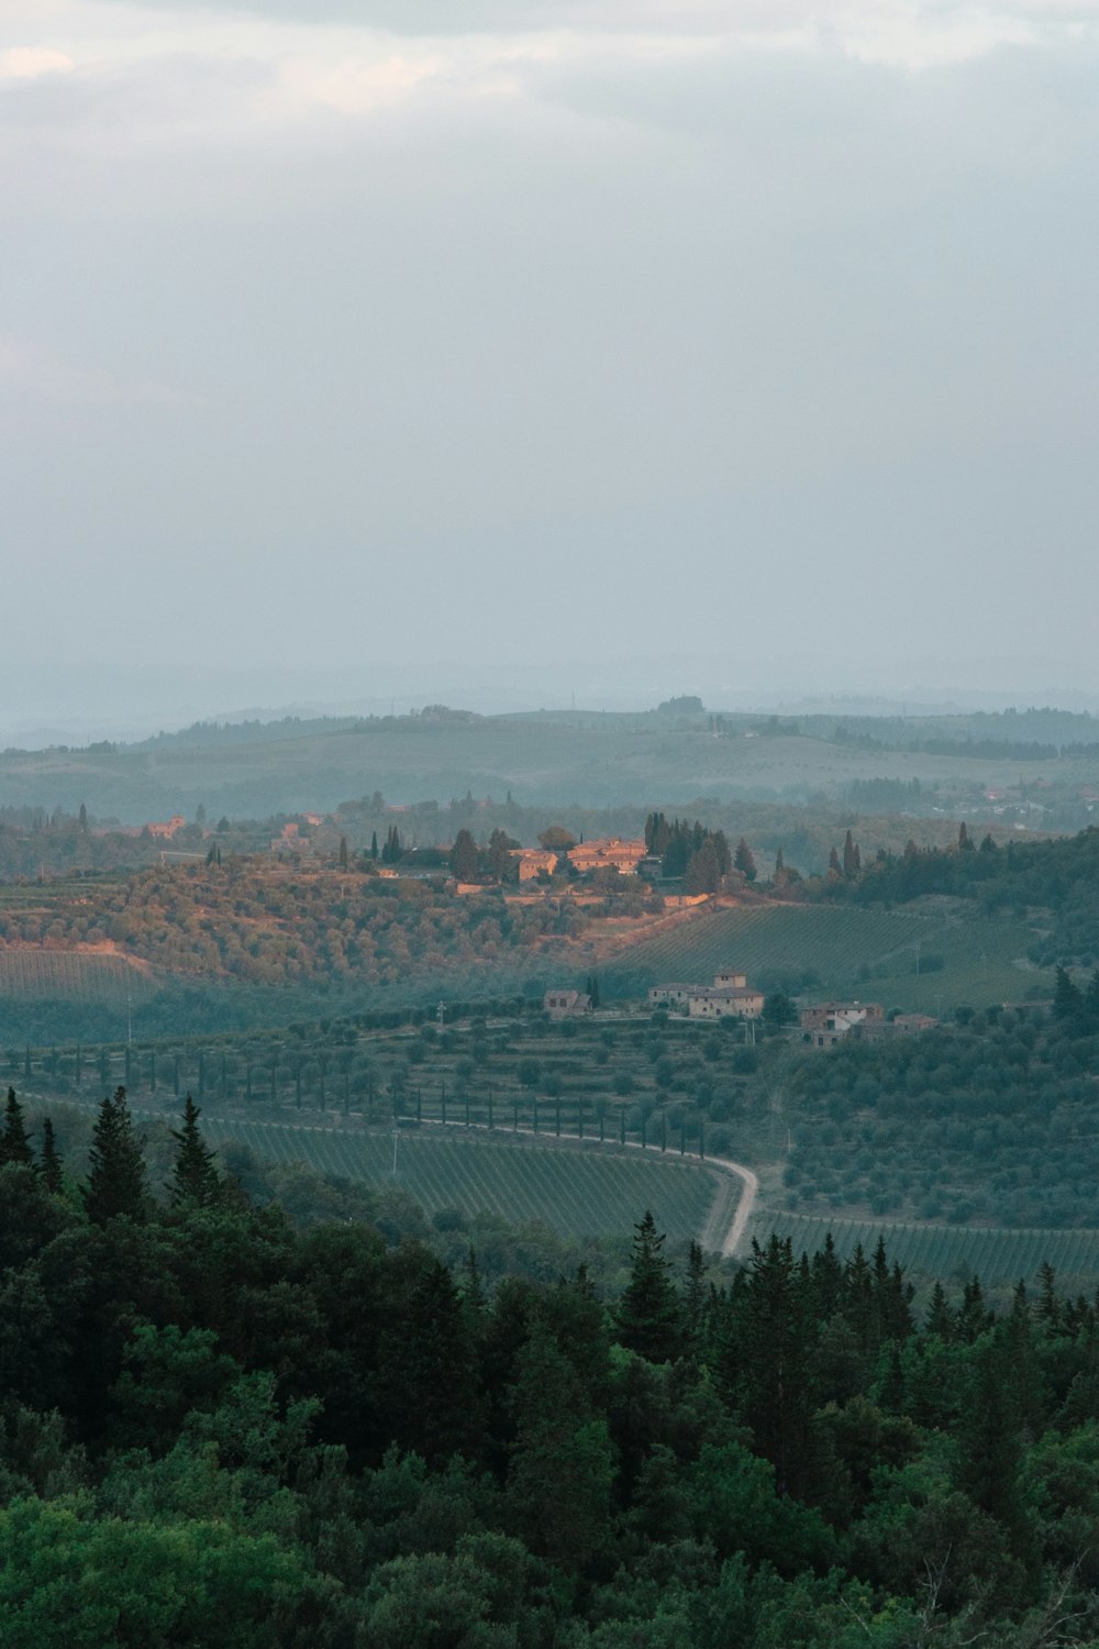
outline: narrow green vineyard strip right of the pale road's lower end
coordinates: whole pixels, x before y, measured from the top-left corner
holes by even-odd
[[[821,1248],[830,1232],[840,1258],[852,1255],[858,1243],[872,1255],[878,1237],[883,1237],[890,1260],[900,1260],[906,1270],[938,1276],[944,1283],[977,1275],[987,1285],[1012,1285],[1023,1278],[1030,1286],[1038,1268],[1048,1261],[1063,1288],[1092,1291],[1099,1275],[1099,1230],[895,1225],[756,1209],[748,1240],[763,1243],[771,1232],[789,1237],[796,1253]]]

